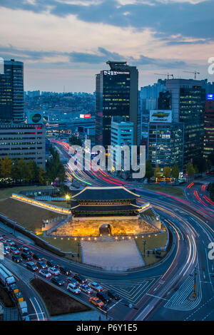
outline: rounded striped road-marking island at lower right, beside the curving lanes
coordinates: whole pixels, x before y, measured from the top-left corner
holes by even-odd
[[[180,286],[177,292],[167,301],[164,305],[165,308],[174,309],[177,311],[190,311],[200,303],[201,289],[198,277],[196,278],[196,292],[195,299],[190,299],[190,294],[193,293],[194,277],[188,277],[185,282]]]

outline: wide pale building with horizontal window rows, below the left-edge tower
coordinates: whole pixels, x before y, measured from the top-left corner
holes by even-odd
[[[0,124],[0,158],[24,158],[46,166],[46,128],[44,125]]]

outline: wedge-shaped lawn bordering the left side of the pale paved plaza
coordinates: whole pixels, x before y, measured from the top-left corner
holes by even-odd
[[[46,236],[39,236],[41,239],[44,239],[54,247],[61,249],[64,252],[76,252],[78,253],[78,240],[70,238],[70,237],[46,237]],[[72,259],[73,261],[81,262],[81,247],[79,248],[80,257],[78,259],[77,254],[72,257],[71,255],[66,256],[68,259]]]

